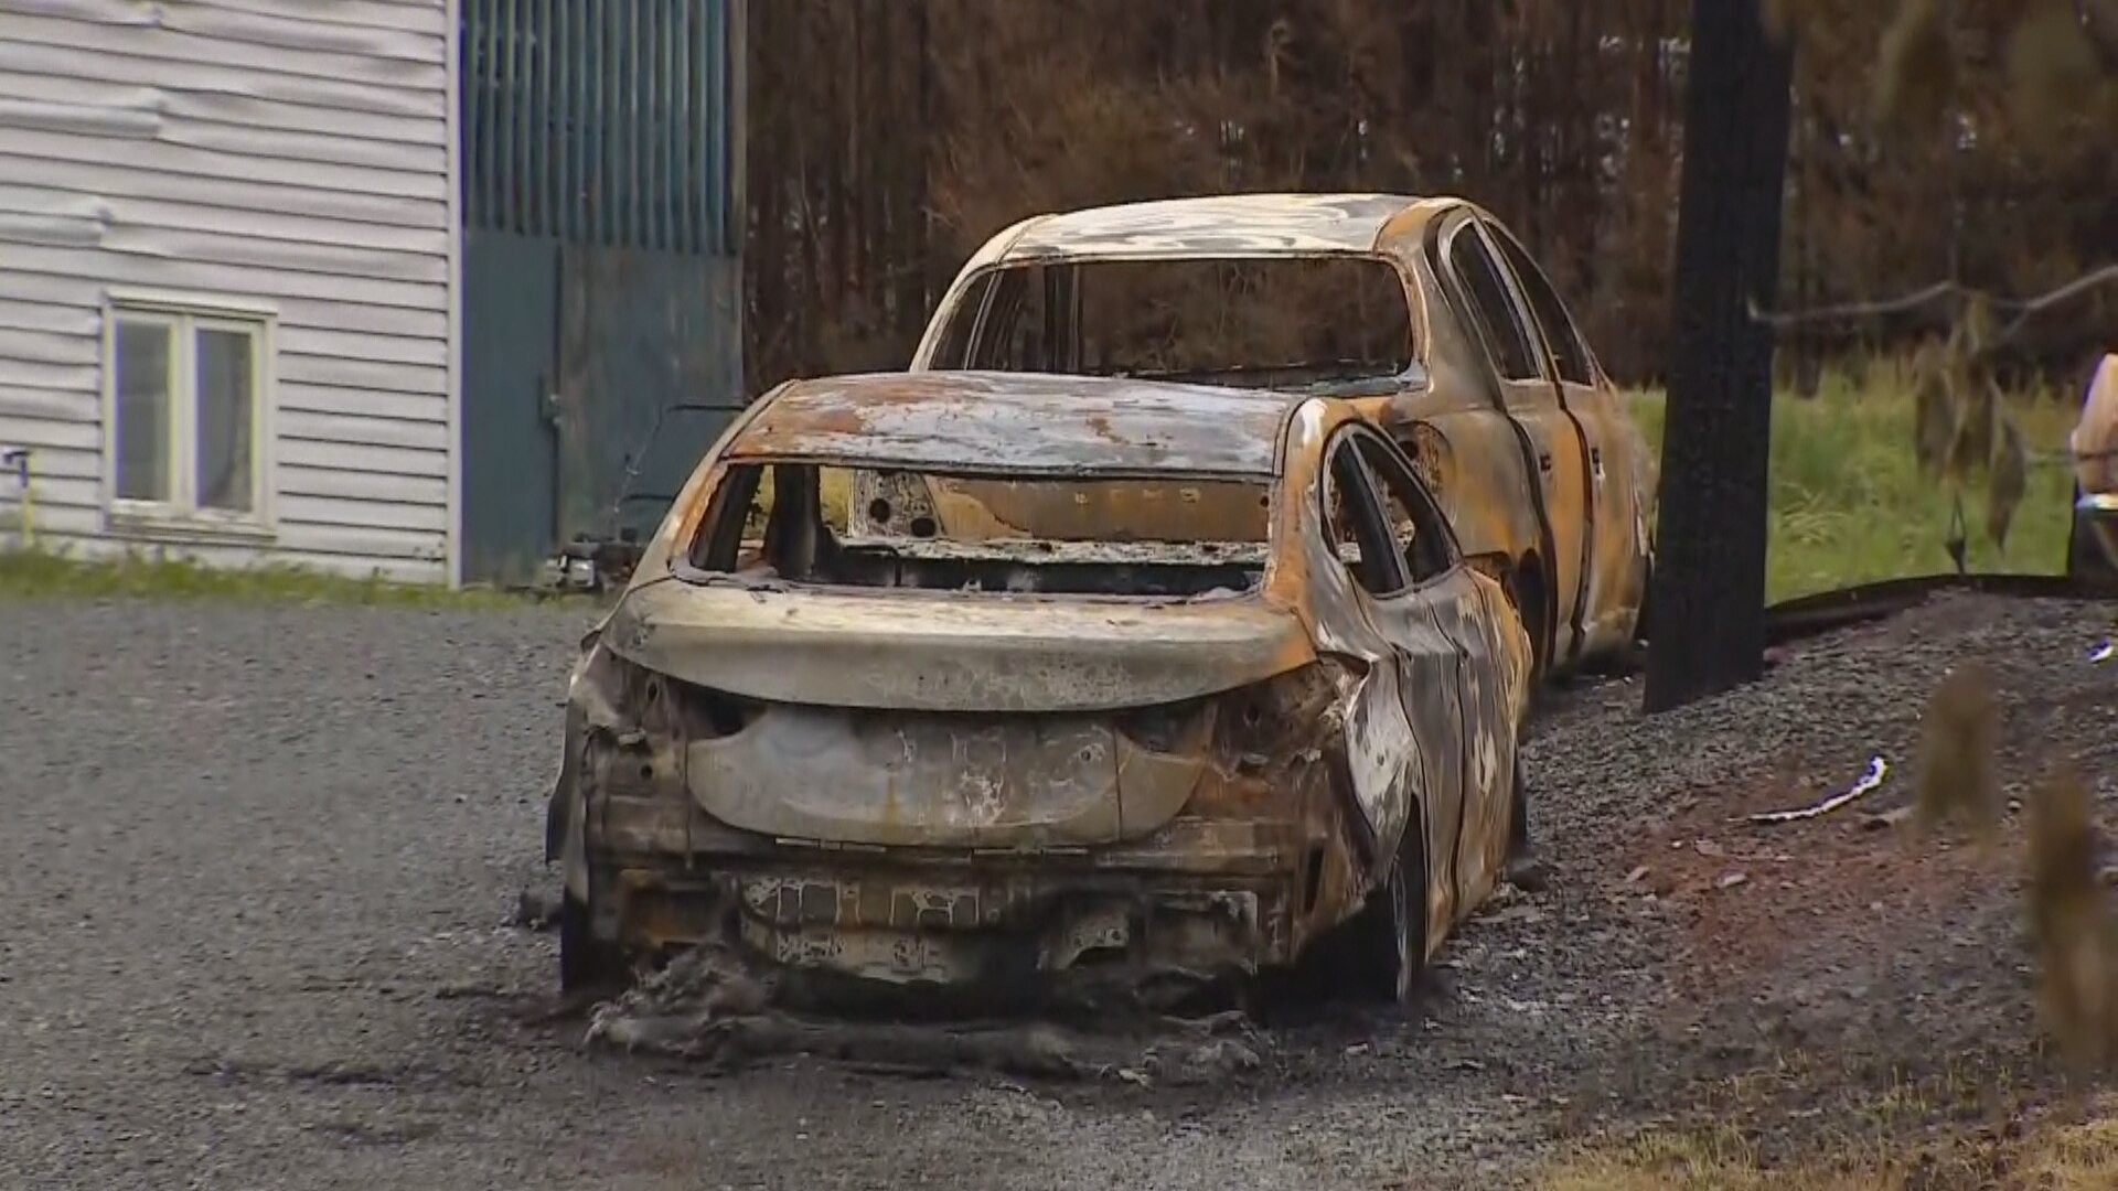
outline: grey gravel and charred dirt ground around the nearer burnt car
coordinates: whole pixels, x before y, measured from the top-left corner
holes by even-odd
[[[553,939],[508,918],[551,886],[578,610],[0,604],[0,1187],[1485,1187],[1694,1113],[1769,1149],[1879,1100],[1887,1127],[2006,1119],[2059,1091],[2014,833],[1733,816],[1870,754],[1877,810],[1902,799],[1968,655],[2006,778],[2076,757],[2107,790],[2107,621],[1946,600],[1656,721],[1625,682],[1559,695],[1550,888],[1447,947],[1425,1017],[1328,1007],[1199,1089],[710,1077],[540,1019]]]

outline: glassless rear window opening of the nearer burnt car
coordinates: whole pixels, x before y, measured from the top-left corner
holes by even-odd
[[[1264,479],[731,466],[690,549],[760,585],[1199,600],[1264,576]]]

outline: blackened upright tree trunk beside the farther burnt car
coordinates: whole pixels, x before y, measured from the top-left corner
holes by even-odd
[[[1692,0],[1646,710],[1764,668],[1773,307],[1792,47],[1758,0]]]

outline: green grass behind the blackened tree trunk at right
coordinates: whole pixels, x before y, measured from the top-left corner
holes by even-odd
[[[1633,415],[1661,458],[1663,396],[1631,396]],[[1985,532],[1985,490],[1966,492],[1972,570],[2059,572],[2074,515],[2074,477],[2063,460],[2078,409],[2057,396],[2012,396],[2008,411],[2029,441],[2029,494],[2016,509],[2006,555]],[[1913,458],[1913,396],[1893,369],[1855,388],[1828,377],[1813,398],[1773,403],[1766,598],[1788,600],[1877,579],[1953,568],[1949,494]]]

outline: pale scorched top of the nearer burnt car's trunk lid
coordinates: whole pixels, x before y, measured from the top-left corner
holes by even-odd
[[[928,712],[1173,704],[1315,657],[1300,621],[1258,598],[1116,602],[676,579],[627,591],[602,640],[635,665],[750,699]]]

